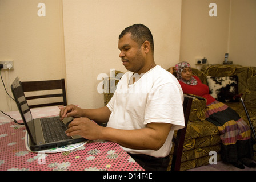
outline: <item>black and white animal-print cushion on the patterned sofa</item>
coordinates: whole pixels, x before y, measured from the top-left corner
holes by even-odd
[[[214,77],[207,76],[207,82],[211,96],[220,102],[237,102],[234,96],[238,94],[238,77],[237,75]]]

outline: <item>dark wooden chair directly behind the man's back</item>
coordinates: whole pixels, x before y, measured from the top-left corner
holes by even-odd
[[[171,169],[170,171],[179,171],[181,168],[181,156],[183,151],[183,144],[185,140],[186,130],[187,130],[187,122],[189,121],[189,114],[192,105],[192,98],[191,97],[184,97],[183,101],[183,112],[184,112],[184,119],[185,119],[185,127],[177,131],[176,137],[173,137],[174,142],[174,152],[173,152],[173,159],[171,160]]]

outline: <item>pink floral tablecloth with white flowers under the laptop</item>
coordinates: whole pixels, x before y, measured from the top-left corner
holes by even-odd
[[[33,117],[58,115],[58,107],[32,109]],[[56,113],[57,112],[57,113]],[[22,122],[18,111],[9,112]],[[143,170],[114,142],[89,141],[70,151],[41,153],[27,151],[26,129],[0,113],[0,170]]]

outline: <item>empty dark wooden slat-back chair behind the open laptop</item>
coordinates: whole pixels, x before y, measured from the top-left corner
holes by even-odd
[[[64,79],[45,81],[23,81],[21,82],[21,85],[30,108],[67,105]],[[38,104],[38,101],[41,98],[43,98],[43,100],[40,100],[40,103]],[[30,101],[32,100],[33,103],[37,103],[30,104]]]

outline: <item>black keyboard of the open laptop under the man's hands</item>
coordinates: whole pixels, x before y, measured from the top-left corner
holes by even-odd
[[[45,143],[58,142],[61,140],[71,139],[65,134],[67,130],[65,124],[59,119],[55,118],[41,118],[41,125],[43,130],[43,137]]]

